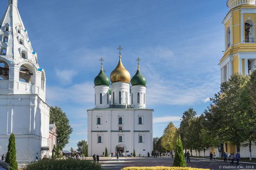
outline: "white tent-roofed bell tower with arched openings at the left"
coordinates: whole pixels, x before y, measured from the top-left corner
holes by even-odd
[[[37,62],[17,0],[9,0],[0,20],[0,155],[7,153],[13,133],[18,163],[48,156],[49,107],[45,94],[45,71]]]

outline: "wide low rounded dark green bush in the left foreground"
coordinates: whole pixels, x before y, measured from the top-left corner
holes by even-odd
[[[54,160],[46,159],[22,167],[22,170],[102,170],[100,164],[88,160]]]

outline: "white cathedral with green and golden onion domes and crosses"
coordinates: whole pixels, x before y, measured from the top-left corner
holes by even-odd
[[[121,47],[119,47],[121,50]],[[94,79],[95,108],[88,110],[88,154],[121,151],[147,156],[153,150],[152,114],[146,107],[146,79],[139,66],[130,76],[121,62],[110,75],[101,71]],[[131,86],[130,86],[131,83]]]

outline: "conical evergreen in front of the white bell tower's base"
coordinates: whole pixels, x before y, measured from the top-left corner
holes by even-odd
[[[10,170],[18,170],[16,161],[15,136],[12,133],[9,138],[8,151],[6,154],[6,163],[10,166]]]

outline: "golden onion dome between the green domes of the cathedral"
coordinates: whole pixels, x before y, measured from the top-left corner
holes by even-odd
[[[111,72],[110,74],[110,80],[111,82],[127,82],[129,83],[131,80],[131,75],[128,72],[127,69],[124,68],[121,56],[119,57],[119,62],[116,66],[116,68]]]

